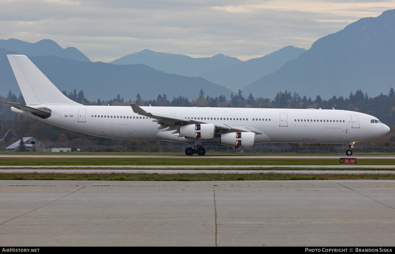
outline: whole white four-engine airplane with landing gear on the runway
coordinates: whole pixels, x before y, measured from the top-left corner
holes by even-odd
[[[80,133],[122,140],[186,144],[185,154],[205,155],[203,144],[251,148],[256,144],[347,143],[389,132],[374,116],[347,110],[87,106],[72,101],[24,55],[7,55],[26,105],[11,111]]]

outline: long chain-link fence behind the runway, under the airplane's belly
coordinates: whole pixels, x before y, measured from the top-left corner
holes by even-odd
[[[235,149],[231,146],[204,145],[207,153],[318,153],[344,154],[347,146],[254,146]],[[0,146],[0,151],[7,151],[7,146]],[[186,146],[56,146],[42,152],[130,152],[130,153],[184,153]],[[36,150],[39,151],[39,150]],[[353,153],[395,153],[395,147],[358,147]]]

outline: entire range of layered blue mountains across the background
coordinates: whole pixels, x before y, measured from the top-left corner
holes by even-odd
[[[83,89],[90,100],[120,93],[134,99],[183,95],[244,95],[273,99],[285,90],[323,99],[362,90],[370,96],[395,86],[395,10],[359,19],[337,33],[315,41],[308,50],[293,46],[248,61],[217,54],[191,58],[142,50],[111,63],[92,63],[75,48],[62,49],[51,40],[27,43],[0,40],[0,94],[18,93],[5,54],[26,54],[61,90]],[[7,53],[8,52],[8,53]],[[188,77],[186,77],[188,76]],[[229,98],[229,97],[228,97]]]

